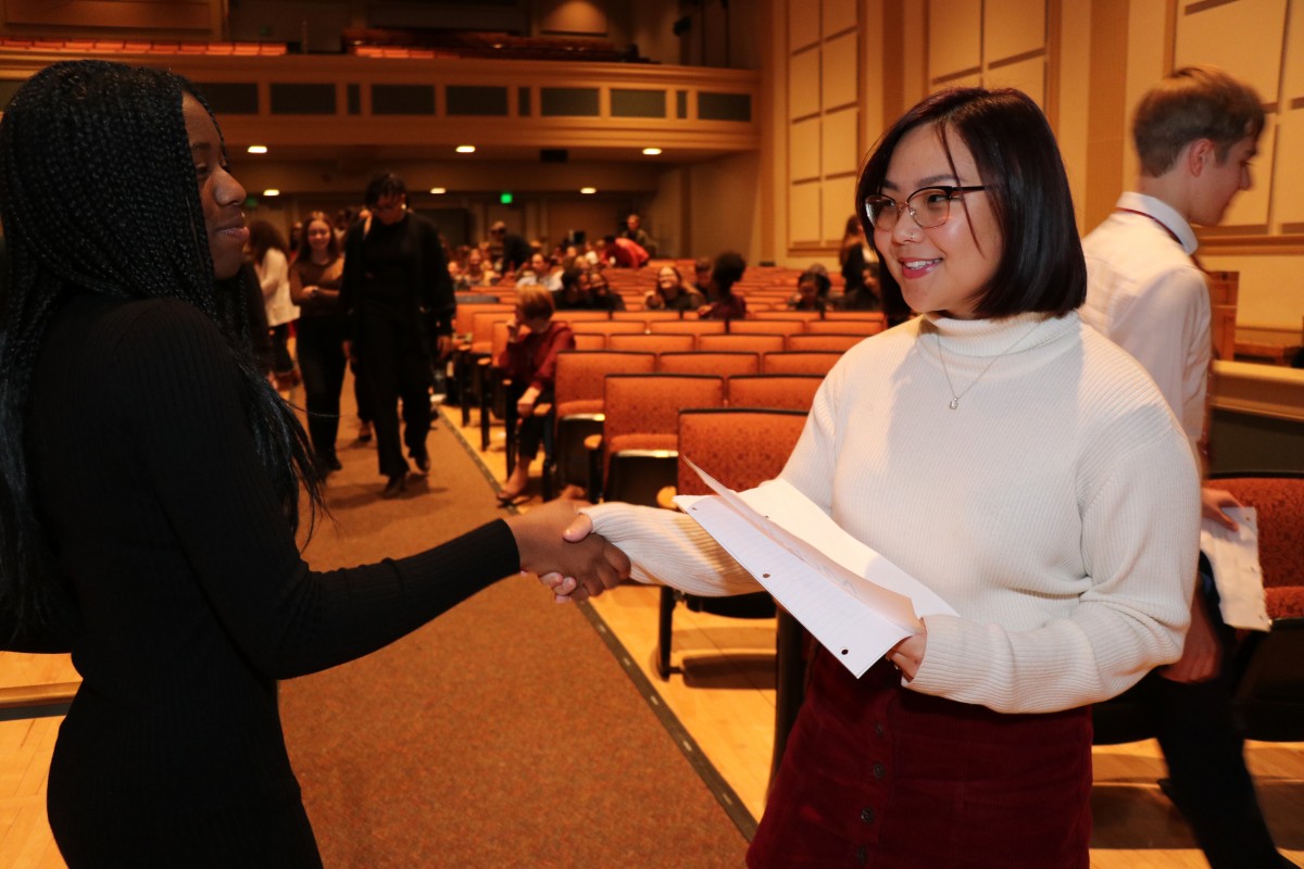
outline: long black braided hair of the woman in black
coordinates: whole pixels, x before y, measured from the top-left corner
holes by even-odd
[[[60,582],[33,500],[27,404],[50,323],[73,292],[179,298],[213,318],[240,370],[258,456],[291,525],[297,528],[300,486],[309,525],[322,506],[304,429],[253,358],[245,301],[257,288],[239,276],[214,279],[184,94],[207,109],[173,73],[67,61],[25,82],[0,119],[8,248],[0,288],[0,624],[16,636],[51,620]],[[0,646],[9,638],[0,636]]]

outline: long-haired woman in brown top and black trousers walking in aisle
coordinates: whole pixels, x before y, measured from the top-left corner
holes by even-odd
[[[289,267],[289,296],[299,305],[299,369],[304,378],[304,409],[308,436],[313,442],[317,470],[322,477],[339,470],[335,439],[339,436],[339,395],[344,388],[344,327],[339,317],[339,283],[344,258],[330,218],[321,211],[308,215],[303,242]]]

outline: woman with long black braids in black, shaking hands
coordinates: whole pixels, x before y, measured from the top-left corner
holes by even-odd
[[[250,353],[245,193],[192,86],[72,61],[0,119],[0,648],[70,650],[48,813],[69,866],[317,866],[276,679],[518,569],[627,573],[574,507],[318,573],[301,426]]]

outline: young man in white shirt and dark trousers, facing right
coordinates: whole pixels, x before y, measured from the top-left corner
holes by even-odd
[[[1131,353],[1181,422],[1197,461],[1205,443],[1210,309],[1192,259],[1191,224],[1222,221],[1251,186],[1249,162],[1264,130],[1258,95],[1222,70],[1179,69],[1136,111],[1132,139],[1141,172],[1114,214],[1082,242],[1090,278],[1082,319]],[[1223,507],[1236,499],[1201,490],[1206,519],[1235,529]],[[1201,559],[1181,658],[1134,689],[1168,765],[1174,803],[1213,869],[1294,865],[1277,851],[1245,767],[1232,709],[1235,632],[1223,624],[1208,562]]]

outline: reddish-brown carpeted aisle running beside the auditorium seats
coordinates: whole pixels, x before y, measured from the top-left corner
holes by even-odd
[[[308,562],[406,555],[502,515],[447,425],[429,447],[429,482],[394,502],[376,498],[374,449],[342,449],[329,483],[338,529],[318,530]],[[280,702],[330,869],[743,862],[742,834],[583,614],[532,580],[283,683]]]

